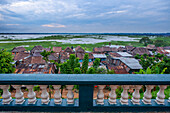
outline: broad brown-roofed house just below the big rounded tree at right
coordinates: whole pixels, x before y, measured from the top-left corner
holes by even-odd
[[[139,54],[139,55],[143,55],[143,54],[147,54],[147,55],[150,55],[150,52],[147,48],[144,48],[144,47],[135,47],[132,51],[131,51],[131,54],[133,56]]]

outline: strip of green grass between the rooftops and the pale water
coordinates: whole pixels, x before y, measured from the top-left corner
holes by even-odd
[[[111,43],[112,45],[131,45],[134,47],[143,47],[143,45],[139,42],[125,42],[125,41],[111,41],[111,42],[101,42],[101,43],[96,43],[96,44],[63,44],[61,42],[19,42],[19,43],[0,43],[0,49],[6,49],[7,51],[11,51],[14,47],[17,46],[25,46],[28,45],[29,47],[25,47],[26,50],[31,50],[34,46],[36,45],[41,45],[44,48],[52,48],[56,46],[62,47],[62,49],[65,49],[66,47],[76,47],[76,46],[81,46],[82,48],[86,48],[87,51],[93,51],[94,47],[101,47],[104,45],[109,45]]]

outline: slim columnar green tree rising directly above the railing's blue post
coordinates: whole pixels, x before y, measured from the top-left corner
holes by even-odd
[[[86,73],[87,72],[88,63],[89,63],[89,54],[85,53],[84,59],[83,59],[83,64],[82,64],[82,68],[81,68],[82,73]]]

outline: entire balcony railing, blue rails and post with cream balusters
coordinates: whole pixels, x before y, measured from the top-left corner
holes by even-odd
[[[9,86],[16,89],[15,98],[11,98]],[[28,98],[24,98],[21,85],[28,89]],[[41,88],[41,98],[36,98],[34,85]],[[47,86],[53,85],[54,99],[49,97]],[[60,88],[66,85],[67,98],[62,98]],[[79,98],[74,98],[74,85],[79,85]],[[94,85],[98,85],[97,98],[94,99]],[[104,99],[103,89],[110,85],[108,99]],[[146,87],[140,99],[139,90]],[[152,89],[159,86],[156,99],[152,99]],[[0,88],[3,89],[0,99],[0,111],[38,111],[38,112],[145,112],[170,111],[169,99],[165,99],[164,90],[170,85],[170,75],[137,75],[137,74],[1,74]],[[115,90],[123,88],[121,98],[117,98]],[[132,98],[128,90],[134,89]]]

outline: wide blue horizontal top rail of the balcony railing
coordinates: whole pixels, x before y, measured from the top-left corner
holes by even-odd
[[[170,74],[0,74],[0,84],[170,85]]]

